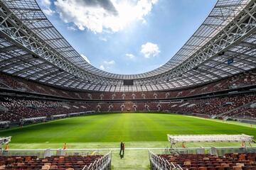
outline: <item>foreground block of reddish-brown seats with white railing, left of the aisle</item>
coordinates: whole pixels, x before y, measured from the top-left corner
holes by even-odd
[[[38,159],[35,156],[0,156],[0,169],[87,170],[110,169],[110,157],[104,155],[52,156]]]

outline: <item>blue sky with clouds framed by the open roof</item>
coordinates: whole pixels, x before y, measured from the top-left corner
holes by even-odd
[[[37,0],[53,26],[98,69],[149,72],[168,62],[216,0]]]

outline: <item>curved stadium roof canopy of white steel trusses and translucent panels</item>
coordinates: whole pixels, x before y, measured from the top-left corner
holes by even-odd
[[[92,91],[178,89],[256,66],[256,2],[218,0],[171,60],[143,74],[112,74],[87,63],[48,21],[36,0],[0,1],[0,72]],[[124,79],[133,86],[124,86]]]

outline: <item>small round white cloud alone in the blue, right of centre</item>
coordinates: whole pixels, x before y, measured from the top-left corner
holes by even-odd
[[[142,45],[141,52],[144,57],[150,58],[159,55],[161,51],[159,50],[159,46],[157,44],[154,44],[152,42],[146,42],[146,44]]]

